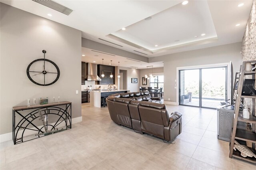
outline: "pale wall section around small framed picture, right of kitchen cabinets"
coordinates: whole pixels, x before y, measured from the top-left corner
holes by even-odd
[[[120,70],[127,70],[127,89],[130,92],[139,91],[140,87],[140,69],[133,69],[128,67],[120,67]],[[138,78],[138,83],[132,83],[132,78]]]

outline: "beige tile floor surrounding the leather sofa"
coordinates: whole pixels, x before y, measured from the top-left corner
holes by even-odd
[[[216,137],[216,110],[167,105],[180,111],[182,133],[175,144],[118,126],[107,108],[82,105],[83,121],[72,129],[13,145],[0,144],[0,169],[256,169],[229,158],[228,142]]]

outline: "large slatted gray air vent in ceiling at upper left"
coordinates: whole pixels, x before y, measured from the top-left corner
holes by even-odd
[[[73,10],[58,4],[57,2],[54,2],[53,0],[32,0],[34,2],[37,2],[39,4],[42,4],[44,6],[47,6],[49,8],[52,8],[53,10],[56,10],[58,12],[61,12],[62,14],[69,15]]]

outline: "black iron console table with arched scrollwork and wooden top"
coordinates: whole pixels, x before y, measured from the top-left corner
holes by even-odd
[[[71,107],[69,101],[12,107],[14,144],[70,129]]]

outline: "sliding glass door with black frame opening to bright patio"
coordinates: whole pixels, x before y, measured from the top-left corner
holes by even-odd
[[[180,70],[180,105],[216,108],[227,99],[227,67]]]

